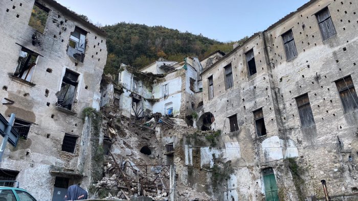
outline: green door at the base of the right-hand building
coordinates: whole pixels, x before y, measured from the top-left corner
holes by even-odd
[[[266,201],[278,201],[277,184],[272,168],[263,170],[263,182],[265,185]]]

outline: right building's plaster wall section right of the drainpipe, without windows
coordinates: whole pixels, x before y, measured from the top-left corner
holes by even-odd
[[[358,172],[352,168],[357,163],[357,155],[351,152],[357,141],[358,116],[356,112],[344,114],[334,81],[350,74],[353,83],[358,84],[358,76],[354,73],[358,51],[354,22],[358,4],[353,1],[313,2],[302,12],[267,30],[265,38],[267,45],[272,47],[268,53],[274,63],[272,74],[283,129],[288,130],[286,135],[297,144],[303,166],[312,167],[306,178],[311,177],[316,187],[325,179],[330,195],[346,194],[358,185],[354,179]],[[323,41],[314,14],[327,6],[337,34]],[[298,52],[291,61],[285,59],[280,37],[288,28],[292,28]],[[308,129],[301,128],[294,99],[304,93],[308,93],[316,123]],[[337,137],[344,144],[342,148],[351,153],[339,152]],[[349,155],[352,162],[348,162]],[[314,187],[309,187],[307,193],[314,194]]]

